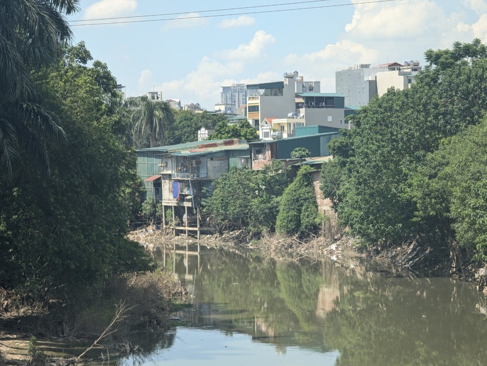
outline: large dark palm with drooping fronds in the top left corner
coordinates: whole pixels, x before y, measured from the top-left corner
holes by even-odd
[[[56,116],[36,103],[32,71],[54,63],[72,37],[62,15],[78,0],[0,0],[0,178],[12,177],[23,152],[49,174],[46,142],[66,139]]]

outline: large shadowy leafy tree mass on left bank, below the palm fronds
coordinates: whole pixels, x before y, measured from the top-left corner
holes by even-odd
[[[125,272],[150,269],[130,240],[125,196],[135,159],[107,104],[115,79],[83,44],[35,76],[40,104],[63,121],[67,144],[48,145],[51,177],[28,155],[0,183],[0,286],[57,295]]]

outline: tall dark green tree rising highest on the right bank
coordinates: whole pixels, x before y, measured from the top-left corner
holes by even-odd
[[[367,244],[435,240],[435,226],[415,218],[410,177],[443,138],[478,124],[487,110],[484,46],[474,40],[454,49],[427,51],[432,65],[411,88],[372,100],[353,117],[355,128],[330,144],[343,173],[339,219]]]

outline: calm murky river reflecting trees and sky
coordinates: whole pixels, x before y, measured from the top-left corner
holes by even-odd
[[[485,365],[486,301],[472,283],[384,270],[365,259],[274,261],[251,252],[152,252],[192,307],[119,364]],[[133,342],[132,342],[133,343]]]

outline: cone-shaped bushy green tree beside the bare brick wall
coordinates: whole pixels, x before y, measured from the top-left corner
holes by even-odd
[[[309,175],[312,170],[310,166],[302,166],[296,178],[284,191],[277,215],[278,232],[307,236],[318,230],[320,215]]]

